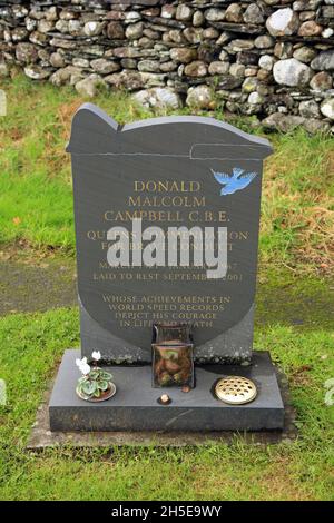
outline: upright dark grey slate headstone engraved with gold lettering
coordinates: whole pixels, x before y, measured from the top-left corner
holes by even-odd
[[[82,354],[99,349],[109,362],[149,362],[151,322],[186,319],[195,324],[198,362],[249,361],[262,165],[269,144],[204,117],[118,126],[87,103],[73,118],[67,150],[72,156]],[[232,176],[236,168],[256,176],[247,187],[222,195],[225,185],[213,171]],[[135,181],[148,180],[183,182],[184,189],[135,191]],[[189,190],[190,182],[198,190]],[[163,205],[161,196],[176,196],[179,204]],[[107,230],[115,225],[130,229],[127,213],[138,210],[154,213],[143,216],[143,228],[227,227],[232,250],[226,278],[203,279],[206,269],[198,267],[108,266]],[[199,306],[190,316],[183,309],[187,299]],[[222,307],[214,310],[217,304]]]

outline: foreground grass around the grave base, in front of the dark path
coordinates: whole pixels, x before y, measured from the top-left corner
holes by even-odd
[[[287,373],[299,437],[279,445],[208,444],[185,448],[23,450],[55,364],[78,344],[73,309],[0,320],[0,499],[28,500],[330,500],[334,494],[334,406],[324,381],[334,376],[333,335],[273,323],[257,328]]]

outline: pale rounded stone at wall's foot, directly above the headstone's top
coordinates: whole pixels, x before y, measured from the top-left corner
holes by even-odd
[[[179,95],[168,88],[145,89],[132,95],[134,100],[143,107],[157,111],[179,109],[183,107]]]

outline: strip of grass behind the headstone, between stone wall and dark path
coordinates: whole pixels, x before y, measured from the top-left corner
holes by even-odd
[[[18,75],[2,81],[8,116],[1,119],[0,241],[23,239],[37,248],[73,255],[70,121],[85,101],[70,88],[33,83]],[[101,92],[95,103],[120,124],[151,117],[121,92]],[[187,110],[180,111],[186,114]],[[224,119],[219,109],[205,114]],[[235,121],[249,132],[252,120]],[[305,272],[330,272],[334,253],[334,146],[331,137],[274,135],[265,164],[261,258]]]

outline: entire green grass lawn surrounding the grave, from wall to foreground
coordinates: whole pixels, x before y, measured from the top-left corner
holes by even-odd
[[[0,241],[33,257],[75,256],[70,120],[84,101],[71,88],[2,81]],[[95,103],[120,122],[149,115],[125,93]],[[218,110],[212,114],[223,118]],[[252,120],[237,120],[249,132]],[[299,436],[278,445],[24,451],[36,409],[65,348],[79,344],[77,309],[0,319],[0,500],[333,500],[334,146],[302,130],[269,137],[265,165],[255,346],[285,371]],[[331,181],[332,180],[332,181]],[[14,292],[14,289],[13,289]],[[293,322],[295,315],[302,323]],[[331,323],[332,312],[332,323]],[[297,318],[297,319],[298,319]]]

